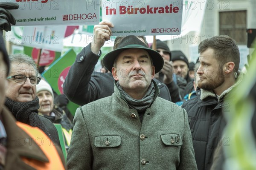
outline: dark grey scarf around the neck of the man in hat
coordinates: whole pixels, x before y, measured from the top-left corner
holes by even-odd
[[[151,82],[151,84],[148,87],[148,91],[144,95],[142,99],[133,99],[129,94],[127,94],[123,88],[120,86],[119,82],[116,82],[116,86],[119,89],[119,91],[122,93],[124,99],[128,103],[128,105],[137,110],[138,112],[145,112],[147,108],[150,107],[151,103],[154,100],[154,95],[155,95],[155,87],[154,83]]]

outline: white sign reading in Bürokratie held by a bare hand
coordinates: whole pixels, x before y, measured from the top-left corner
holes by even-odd
[[[177,35],[183,0],[102,0],[102,20],[113,23],[112,35]]]

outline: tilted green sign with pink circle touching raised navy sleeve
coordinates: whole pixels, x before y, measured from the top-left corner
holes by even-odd
[[[63,94],[63,84],[70,66],[76,59],[76,53],[73,49],[67,51],[63,56],[57,59],[49,68],[42,73],[42,77],[47,80],[47,82],[52,86],[53,90],[59,95]],[[69,102],[67,108],[69,111],[75,115],[76,109],[79,105],[73,102]]]

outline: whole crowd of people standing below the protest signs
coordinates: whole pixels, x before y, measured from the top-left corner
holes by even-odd
[[[152,49],[144,36],[116,37],[100,73],[94,68],[114,27],[102,21],[94,26],[93,41],[77,54],[64,94],[56,95],[32,57],[7,54],[3,30],[15,25],[8,10],[17,4],[0,8],[1,170],[256,168],[255,65],[247,74],[239,71],[233,38],[220,35],[201,41],[198,62],[192,63],[161,40]],[[66,107],[69,101],[80,105],[74,117]],[[233,150],[242,140],[234,136],[243,134],[234,127],[239,122],[234,117],[242,114],[248,123],[244,129],[250,129],[247,147],[254,153],[248,156],[241,149],[247,164],[230,166],[239,160]],[[61,133],[55,124],[61,125]]]

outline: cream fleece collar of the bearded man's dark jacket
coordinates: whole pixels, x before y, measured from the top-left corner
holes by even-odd
[[[243,79],[243,74],[240,73],[239,74],[239,77],[237,78],[236,80],[236,83],[234,85],[232,85],[230,88],[228,88],[227,90],[223,91],[222,94],[219,96],[218,98],[218,102],[220,102],[220,100],[226,95],[228,94],[233,88],[235,88],[236,86],[238,86],[240,84],[240,82],[242,81]],[[211,91],[208,91],[208,90],[204,90],[204,89],[201,89],[201,95],[200,95],[200,99],[201,100],[204,100],[206,99],[207,97],[216,97],[216,94],[211,90]]]

